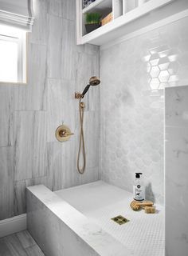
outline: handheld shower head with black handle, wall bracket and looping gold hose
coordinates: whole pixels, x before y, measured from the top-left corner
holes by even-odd
[[[89,79],[88,85],[85,86],[82,94],[75,93],[75,98],[79,99],[79,115],[80,115],[80,139],[79,139],[79,150],[77,155],[77,170],[80,174],[84,174],[85,165],[86,165],[86,155],[85,155],[85,146],[84,146],[84,108],[85,104],[82,102],[84,95],[88,92],[90,86],[98,86],[100,84],[100,78],[92,77]],[[80,167],[80,154],[83,155],[83,166]]]

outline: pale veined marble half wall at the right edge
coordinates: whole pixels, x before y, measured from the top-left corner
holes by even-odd
[[[188,86],[166,89],[166,255],[188,252]]]

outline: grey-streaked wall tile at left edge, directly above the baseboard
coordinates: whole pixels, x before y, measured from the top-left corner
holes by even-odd
[[[0,220],[14,215],[14,150],[0,147]]]

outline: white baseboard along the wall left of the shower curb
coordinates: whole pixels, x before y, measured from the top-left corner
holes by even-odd
[[[6,218],[0,221],[0,238],[27,229],[27,215],[22,214],[13,218]]]

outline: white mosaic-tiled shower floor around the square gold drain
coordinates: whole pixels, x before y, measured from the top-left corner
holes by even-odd
[[[135,256],[164,256],[163,206],[156,205],[157,214],[133,211],[130,207],[131,193],[102,181],[55,193],[119,240]],[[111,218],[119,214],[129,222],[121,226],[112,222]]]

